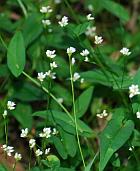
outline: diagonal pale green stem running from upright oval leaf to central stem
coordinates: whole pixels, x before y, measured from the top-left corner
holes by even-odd
[[[66,114],[69,116],[69,118],[74,122],[74,119],[73,117],[71,116],[71,114],[69,113],[69,111],[63,106],[62,103],[59,103],[57,98],[51,93],[48,91],[47,88],[45,88],[44,86],[41,86],[39,82],[37,82],[35,79],[33,79],[32,77],[30,77],[27,73],[25,73],[24,71],[22,72],[23,75],[25,75],[30,81],[32,81],[34,84],[36,84],[38,87],[42,88],[42,90],[44,92],[46,92],[47,94],[49,94],[57,104],[59,104],[59,106],[66,112]]]

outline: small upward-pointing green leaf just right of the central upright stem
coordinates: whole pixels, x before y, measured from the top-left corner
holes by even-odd
[[[76,116],[82,117],[88,109],[93,93],[93,87],[85,90],[75,101]]]

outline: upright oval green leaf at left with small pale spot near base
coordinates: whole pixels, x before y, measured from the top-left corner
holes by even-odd
[[[15,77],[18,77],[25,66],[25,47],[21,32],[16,32],[10,41],[7,52],[7,64]]]

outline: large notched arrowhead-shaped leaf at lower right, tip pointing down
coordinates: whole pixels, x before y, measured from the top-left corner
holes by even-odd
[[[124,112],[116,110],[113,119],[100,135],[100,163],[99,171],[103,171],[109,159],[130,137],[134,129],[131,120],[123,121]]]

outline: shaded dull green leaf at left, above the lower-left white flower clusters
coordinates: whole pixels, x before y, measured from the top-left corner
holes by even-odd
[[[23,128],[32,127],[32,110],[29,105],[19,103],[12,113],[14,117],[20,122]]]

